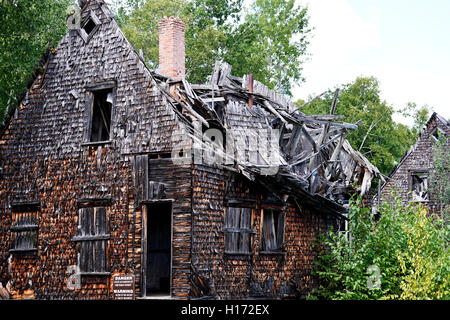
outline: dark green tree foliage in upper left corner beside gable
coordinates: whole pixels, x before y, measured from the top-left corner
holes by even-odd
[[[45,48],[66,32],[69,0],[0,1],[0,122]]]

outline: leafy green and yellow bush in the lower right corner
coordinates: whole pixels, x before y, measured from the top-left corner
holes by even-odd
[[[319,238],[320,285],[310,299],[450,299],[450,230],[442,220],[395,197],[379,212],[376,221],[352,201],[350,237]]]

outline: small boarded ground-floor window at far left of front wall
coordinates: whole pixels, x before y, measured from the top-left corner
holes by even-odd
[[[11,252],[38,249],[37,212],[13,212]]]

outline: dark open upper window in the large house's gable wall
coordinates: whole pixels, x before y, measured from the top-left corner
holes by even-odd
[[[111,112],[113,103],[112,89],[93,92],[94,103],[91,123],[91,142],[110,139]]]

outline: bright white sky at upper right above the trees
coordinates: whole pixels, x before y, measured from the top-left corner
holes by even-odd
[[[295,100],[374,76],[382,99],[396,110],[415,102],[450,118],[450,0],[299,3],[308,6],[315,29]]]

